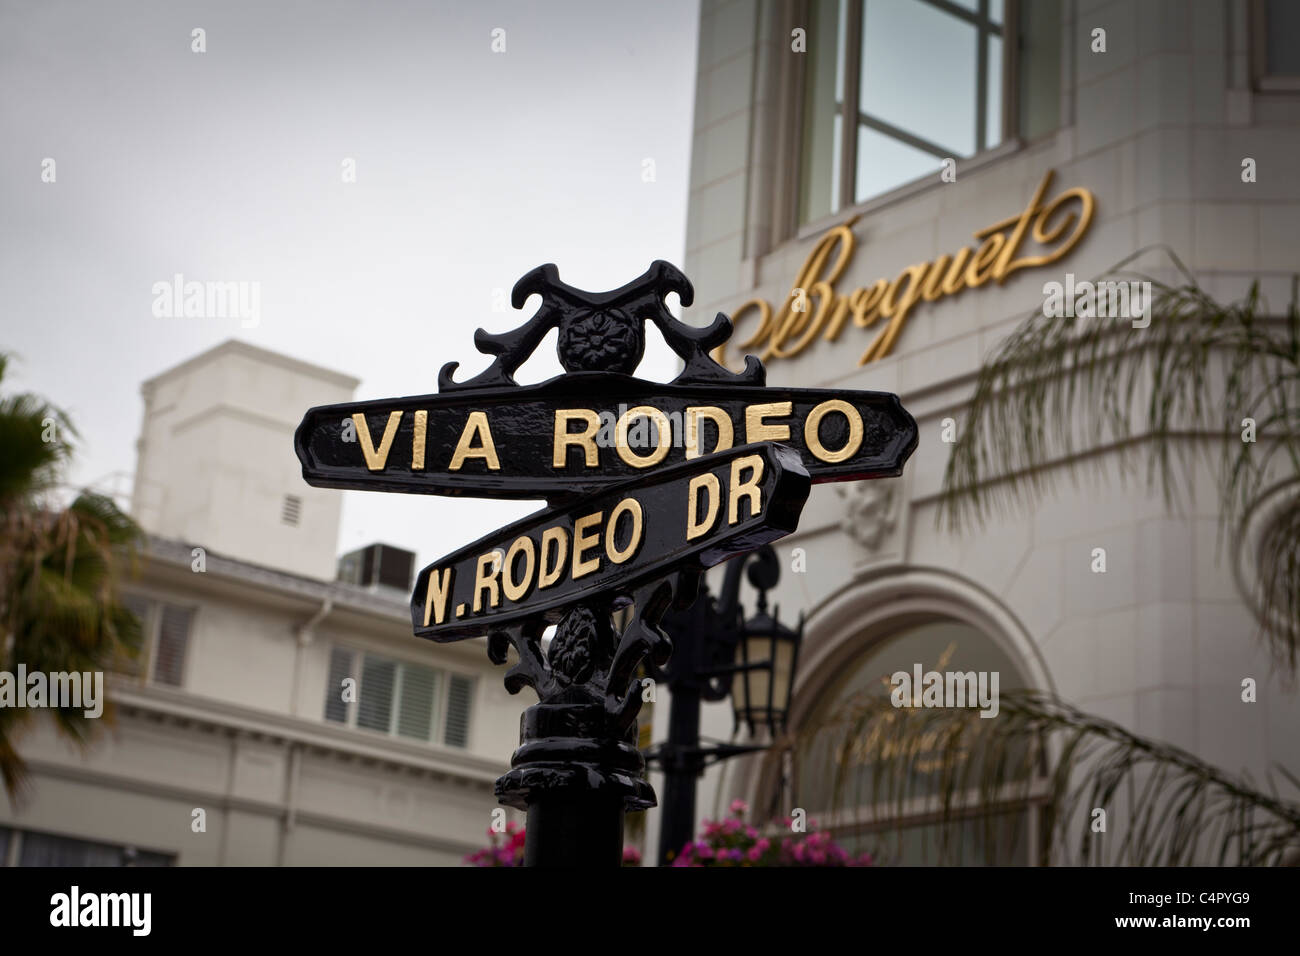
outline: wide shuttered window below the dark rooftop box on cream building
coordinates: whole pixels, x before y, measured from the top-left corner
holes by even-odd
[[[355,682],[355,697],[343,682]],[[408,740],[469,745],[473,679],[348,648],[333,648],[325,719]]]

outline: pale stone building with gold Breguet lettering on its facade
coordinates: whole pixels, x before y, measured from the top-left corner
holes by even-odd
[[[1100,455],[1105,481],[1058,481],[1041,506],[980,532],[935,524],[945,420],[961,427],[980,362],[1044,308],[1045,284],[1164,245],[1221,302],[1258,280],[1284,312],[1300,250],[1297,10],[703,0],[688,315],[736,320],[732,367],[753,352],[772,385],[894,392],[920,428],[901,479],[815,486],[780,542],[772,600],[809,613],[796,727],[881,675],[946,659],[1232,773],[1300,766],[1300,700],[1256,641],[1240,541],[1217,551],[1209,472],[1170,514]],[[1138,264],[1173,276],[1160,254]],[[1105,574],[1092,570],[1098,548]],[[1242,701],[1244,678],[1258,702]],[[731,731],[725,705],[706,708],[707,735]],[[827,784],[732,761],[708,771],[699,816],[740,796],[827,819]],[[915,838],[904,858],[932,809],[888,821]],[[1020,826],[1032,858],[1035,816]],[[655,827],[651,814],[651,845]],[[870,832],[838,835],[871,845]]]

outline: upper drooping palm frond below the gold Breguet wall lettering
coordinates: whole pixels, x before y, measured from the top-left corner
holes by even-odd
[[[983,365],[944,472],[937,522],[954,532],[1040,501],[1063,475],[1100,477],[1118,459],[1170,507],[1191,488],[1199,457],[1217,451],[1219,542],[1235,535],[1262,489],[1300,497],[1300,312],[1270,317],[1257,285],[1221,304],[1167,252],[1176,284],[1119,263],[1098,281],[1152,284],[1149,325],[1028,316]],[[1243,440],[1245,419],[1256,441]],[[1109,454],[1100,454],[1109,453]],[[1208,454],[1206,454],[1208,453]],[[1290,533],[1287,533],[1290,531]],[[1266,535],[1257,596],[1261,632],[1295,672],[1300,653],[1295,525]],[[1290,568],[1290,571],[1288,571]]]

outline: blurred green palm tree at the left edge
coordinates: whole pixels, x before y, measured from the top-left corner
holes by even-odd
[[[8,362],[0,354],[0,381]],[[0,397],[0,671],[10,675],[20,663],[27,674],[101,671],[139,649],[140,624],[121,604],[118,579],[140,532],[104,496],[82,492],[58,505],[74,437],[68,416],[39,397]],[[32,717],[0,708],[0,779],[10,797],[26,778],[17,731]],[[88,741],[83,709],[56,708],[53,718]]]

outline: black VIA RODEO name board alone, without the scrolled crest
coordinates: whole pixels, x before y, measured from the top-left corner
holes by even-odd
[[[896,476],[915,423],[887,392],[662,385],[576,372],[312,408],[295,437],[313,485],[552,498],[758,441],[794,449],[814,483]]]

